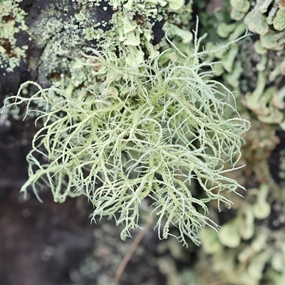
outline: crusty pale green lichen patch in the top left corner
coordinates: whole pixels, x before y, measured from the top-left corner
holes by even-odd
[[[26,13],[19,8],[19,1],[0,2],[0,68],[13,71],[26,58],[28,46],[16,44],[16,34],[27,31]]]

